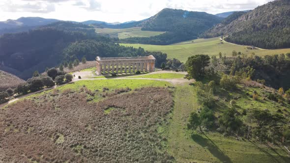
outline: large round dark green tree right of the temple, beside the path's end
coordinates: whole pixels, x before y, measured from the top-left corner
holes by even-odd
[[[205,75],[205,67],[210,63],[208,55],[199,54],[188,57],[185,67],[188,75],[194,79],[202,79]]]

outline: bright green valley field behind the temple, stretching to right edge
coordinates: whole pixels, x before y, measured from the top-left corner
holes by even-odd
[[[193,42],[192,42],[193,41]],[[253,52],[257,55],[272,55],[290,53],[290,49],[278,50],[248,50],[246,46],[233,45],[230,43],[220,44],[220,38],[197,39],[185,41],[174,45],[144,45],[144,44],[120,44],[124,46],[133,46],[135,48],[142,47],[147,51],[160,51],[166,53],[168,58],[177,58],[182,62],[187,60],[188,56],[194,54],[218,55],[219,52],[228,56],[232,55],[232,51],[242,52],[251,55]]]

